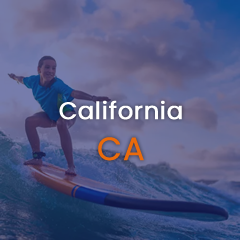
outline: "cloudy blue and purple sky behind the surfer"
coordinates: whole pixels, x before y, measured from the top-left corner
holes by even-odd
[[[38,60],[51,55],[58,78],[119,107],[183,106],[176,121],[78,118],[74,148],[115,137],[121,145],[104,148],[125,154],[136,137],[144,157],[130,157],[137,165],[165,162],[194,180],[239,181],[239,9],[233,0],[2,0],[0,129],[26,139],[25,118],[41,108],[7,73],[37,75]],[[39,133],[59,144],[56,129]]]

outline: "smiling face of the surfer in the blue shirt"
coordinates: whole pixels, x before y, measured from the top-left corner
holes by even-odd
[[[43,65],[38,67],[38,73],[45,81],[51,81],[56,74],[56,62],[52,59],[44,60]]]

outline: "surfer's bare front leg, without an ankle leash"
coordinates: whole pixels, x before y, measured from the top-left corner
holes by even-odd
[[[74,113],[75,112],[65,112],[64,115],[67,117],[70,117]],[[68,169],[66,171],[66,174],[70,174],[70,175],[76,175],[76,173],[75,173],[75,166],[73,163],[72,139],[68,131],[68,128],[70,128],[75,123],[75,121],[76,121],[76,118],[71,120],[59,118],[57,120],[57,129],[58,129],[60,140],[61,140],[61,146],[68,163]]]

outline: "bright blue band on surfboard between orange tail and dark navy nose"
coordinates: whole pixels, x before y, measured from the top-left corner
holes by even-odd
[[[75,198],[99,204],[104,204],[104,200],[107,195],[108,193],[95,191],[85,187],[79,187],[75,192]]]

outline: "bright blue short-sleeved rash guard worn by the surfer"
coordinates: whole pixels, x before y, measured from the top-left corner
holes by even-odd
[[[71,96],[73,89],[56,77],[51,80],[51,86],[49,87],[40,85],[40,75],[26,77],[23,79],[23,83],[26,87],[32,89],[34,98],[53,121],[60,118],[59,108],[61,104],[71,102],[74,99]],[[66,111],[73,111],[72,106],[65,106],[63,112]]]

